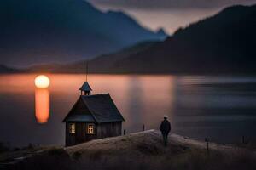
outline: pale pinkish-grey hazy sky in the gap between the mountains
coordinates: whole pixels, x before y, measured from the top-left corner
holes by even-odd
[[[233,4],[256,0],[88,0],[102,10],[123,10],[152,30],[163,27],[172,33],[180,26],[203,19]]]

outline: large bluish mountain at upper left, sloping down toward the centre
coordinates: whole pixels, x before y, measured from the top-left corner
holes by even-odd
[[[0,2],[0,64],[68,62],[166,36],[84,0]]]

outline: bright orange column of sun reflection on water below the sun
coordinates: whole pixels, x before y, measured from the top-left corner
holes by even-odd
[[[36,88],[35,114],[38,123],[44,124],[49,120],[49,89]]]

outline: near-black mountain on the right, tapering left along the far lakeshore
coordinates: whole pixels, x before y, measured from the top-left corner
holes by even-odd
[[[91,59],[90,72],[255,74],[255,47],[256,5],[233,6],[178,29],[164,42],[144,42]],[[30,71],[84,72],[84,62]]]

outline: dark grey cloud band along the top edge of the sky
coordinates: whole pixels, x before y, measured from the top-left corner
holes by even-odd
[[[253,4],[256,0],[89,0],[89,2],[121,8],[221,8],[233,4]]]

